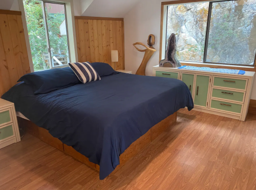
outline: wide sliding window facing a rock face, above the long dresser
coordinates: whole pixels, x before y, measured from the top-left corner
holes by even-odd
[[[254,66],[256,0],[169,5],[166,48],[172,33],[179,61]]]

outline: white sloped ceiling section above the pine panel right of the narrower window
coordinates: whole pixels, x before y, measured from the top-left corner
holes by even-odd
[[[123,18],[140,0],[80,0],[82,16]]]

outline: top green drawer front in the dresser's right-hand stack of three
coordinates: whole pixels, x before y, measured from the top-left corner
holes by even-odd
[[[214,86],[245,90],[246,80],[215,77]]]

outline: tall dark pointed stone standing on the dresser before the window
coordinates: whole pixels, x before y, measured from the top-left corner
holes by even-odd
[[[165,53],[165,59],[160,61],[159,67],[181,67],[180,62],[176,58],[176,36],[170,35],[168,46]]]

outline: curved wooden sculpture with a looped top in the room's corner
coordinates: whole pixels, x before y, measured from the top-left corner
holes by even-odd
[[[149,35],[148,39],[147,39],[147,45],[149,45],[149,47],[147,47],[146,45],[144,45],[141,42],[136,42],[133,44],[134,47],[138,51],[145,52],[144,58],[140,64],[140,67],[138,68],[136,74],[145,76],[146,64],[150,60],[150,58],[153,56],[154,52],[156,51],[156,49],[153,47],[154,44],[155,44],[155,36],[153,34]],[[136,45],[142,45],[146,49],[139,49],[136,47]]]

